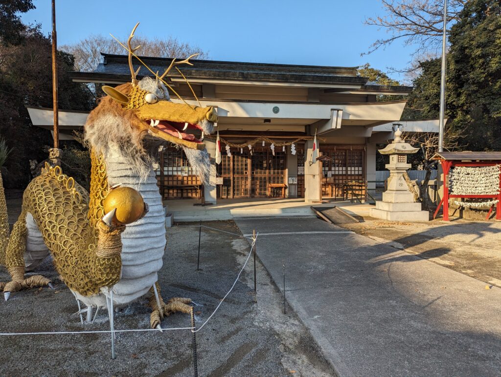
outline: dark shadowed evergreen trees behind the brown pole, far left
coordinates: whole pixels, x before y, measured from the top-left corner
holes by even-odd
[[[30,161],[48,157],[52,145],[48,130],[34,127],[26,106],[52,108],[51,40],[30,27],[19,45],[0,44],[0,135],[12,153],[6,161],[6,187],[23,188],[30,180]],[[74,83],[73,56],[58,52],[59,106],[64,110],[90,110],[93,96],[84,84]],[[64,143],[63,143],[64,144]]]

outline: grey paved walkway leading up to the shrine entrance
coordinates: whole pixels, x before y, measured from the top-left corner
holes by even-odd
[[[340,375],[499,375],[501,289],[322,220],[234,221],[260,232],[281,289],[285,261],[287,300]]]

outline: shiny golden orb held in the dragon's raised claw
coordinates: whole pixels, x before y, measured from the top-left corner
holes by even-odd
[[[144,200],[141,194],[132,187],[118,187],[106,195],[103,201],[104,213],[116,208],[113,221],[118,224],[130,224],[143,214]]]

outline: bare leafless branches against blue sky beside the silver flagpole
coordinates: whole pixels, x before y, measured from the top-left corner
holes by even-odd
[[[449,26],[458,19],[459,12],[467,0],[448,0],[447,33]],[[413,56],[428,54],[441,46],[443,26],[443,0],[381,0],[382,16],[369,17],[366,25],[377,26],[386,30],[387,38],[376,40],[368,54],[386,47],[396,40],[402,40],[404,46],[417,45]]]

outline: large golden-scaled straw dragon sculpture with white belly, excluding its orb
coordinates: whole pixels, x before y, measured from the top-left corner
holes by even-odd
[[[91,147],[90,193],[64,175],[59,166],[46,164],[26,188],[22,213],[9,236],[1,187],[0,263],[12,278],[0,283],[6,300],[23,288],[52,286],[42,275],[24,277],[25,271],[35,269],[50,252],[62,281],[89,310],[106,307],[110,292],[116,307],[145,299],[155,328],[164,315],[191,309],[189,298],[164,303],[154,292],[155,285],[159,293],[157,272],[162,267],[166,239],[165,213],[152,163],[159,147],[174,144],[183,148],[192,167],[207,182],[209,160],[203,134],[212,132],[217,114],[212,107],[170,101],[163,78],[177,64],[191,64],[189,58],[173,60],[156,79],[136,79],[139,69],[134,70],[132,57],[139,47],[131,46],[136,28],[127,48],[132,82],[103,87],[107,96],[85,125]],[[187,133],[194,130],[201,131],[200,139]],[[137,190],[145,203],[142,217],[129,225],[117,223],[120,208],[108,213],[104,210],[106,196],[120,185]]]

